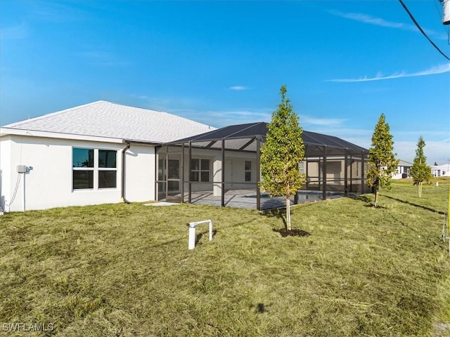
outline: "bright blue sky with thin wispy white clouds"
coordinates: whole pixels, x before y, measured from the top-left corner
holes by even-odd
[[[450,56],[439,0],[404,0]],[[0,124],[96,100],[216,127],[270,121],[370,147],[385,114],[400,159],[423,136],[450,161],[450,61],[399,1],[0,0]]]

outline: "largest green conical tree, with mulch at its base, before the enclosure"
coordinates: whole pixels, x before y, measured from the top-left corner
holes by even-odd
[[[267,126],[266,141],[261,148],[260,186],[271,196],[286,198],[286,229],[291,230],[289,198],[302,188],[306,178],[299,168],[304,158],[303,130],[286,91],[286,86],[281,86],[281,103]]]

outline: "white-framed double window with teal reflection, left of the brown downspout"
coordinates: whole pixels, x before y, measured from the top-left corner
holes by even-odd
[[[72,148],[73,190],[117,187],[117,151]]]

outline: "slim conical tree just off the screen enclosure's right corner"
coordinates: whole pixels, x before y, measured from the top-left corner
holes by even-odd
[[[389,124],[386,123],[385,115],[381,114],[373,131],[372,145],[368,150],[369,169],[366,171],[367,185],[375,192],[375,207],[378,207],[380,187],[391,187],[392,173],[397,171],[399,165],[393,150],[394,141]]]

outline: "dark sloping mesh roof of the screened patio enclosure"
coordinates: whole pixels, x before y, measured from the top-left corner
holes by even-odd
[[[226,150],[255,151],[255,141],[251,142],[250,140],[259,139],[264,142],[266,140],[267,124],[260,121],[257,123],[225,126],[224,128],[218,128],[197,136],[176,140],[171,142],[171,144],[191,142],[193,146],[220,149],[221,142],[219,140],[225,140]],[[327,153],[329,154],[344,154],[344,150],[354,154],[368,152],[364,147],[347,142],[347,140],[311,131],[303,131],[302,139],[304,145],[309,147],[307,149],[307,151],[309,150],[309,155],[321,155],[321,150],[318,147],[323,146],[327,147]],[[330,149],[329,152],[328,149]]]

